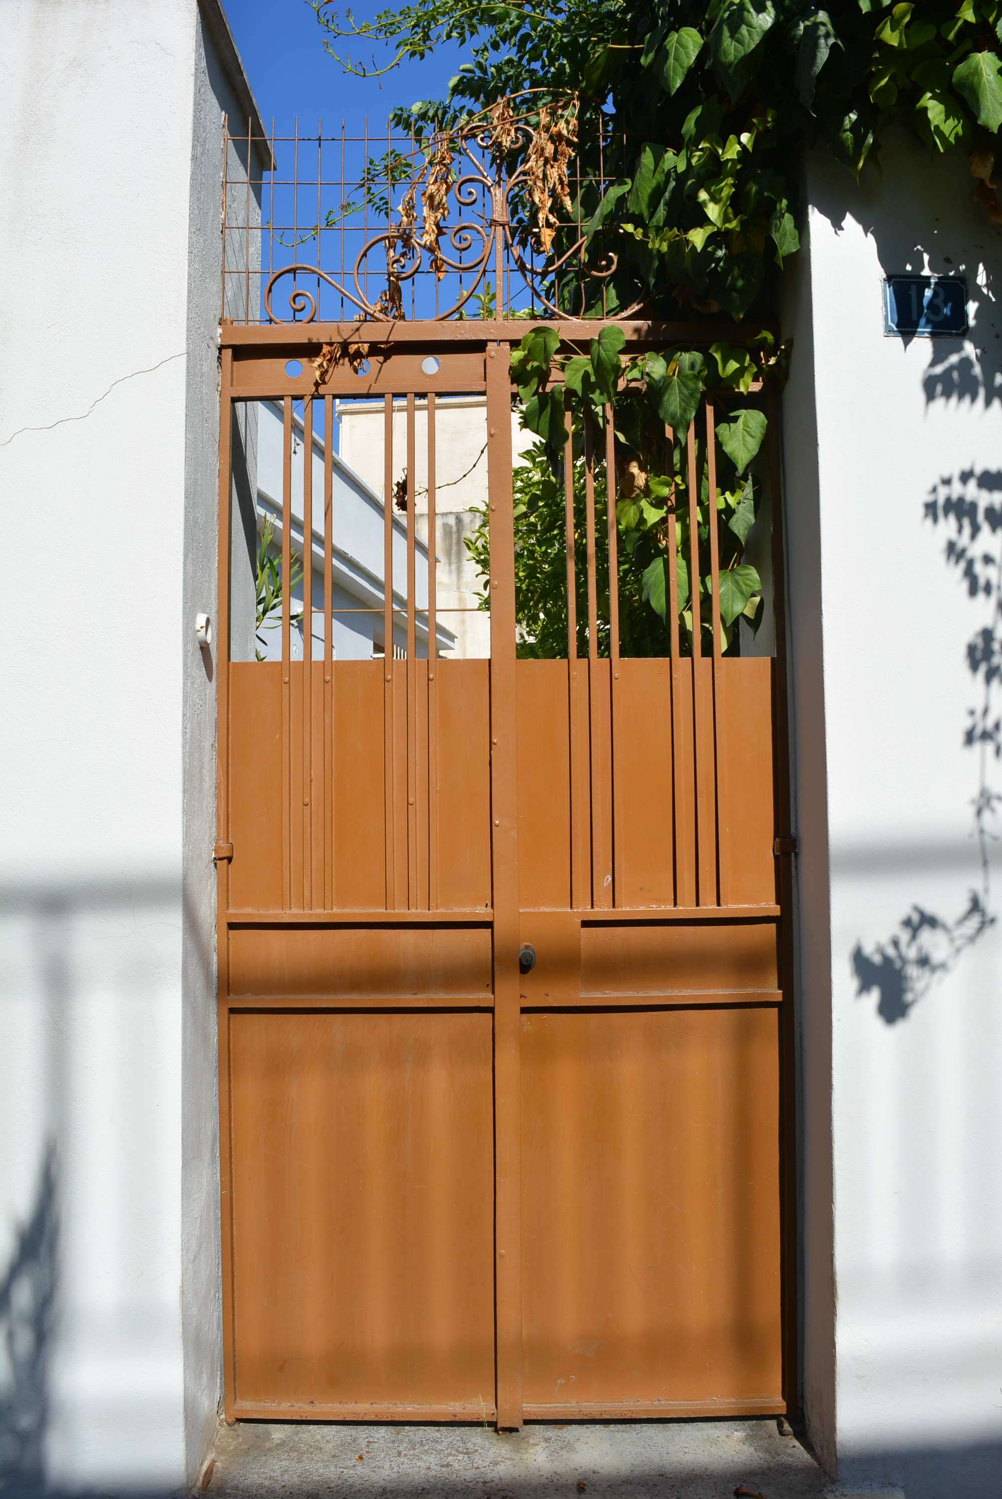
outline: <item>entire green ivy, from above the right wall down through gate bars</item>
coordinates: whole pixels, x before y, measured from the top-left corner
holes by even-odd
[[[652,319],[740,321],[768,313],[770,286],[800,247],[798,172],[804,145],[822,145],[860,175],[879,171],[886,130],[900,123],[932,153],[962,147],[975,199],[1002,226],[993,181],[1002,126],[1002,0],[411,0],[374,21],[309,0],[324,45],[360,75],[420,60],[442,42],[468,48],[444,99],[398,108],[392,124],[418,141],[486,114],[500,99],[532,94],[536,141],[573,105],[580,187],[564,222],[538,217],[543,253],[556,264],[578,225],[596,261],[591,316],[636,306]],[[384,61],[375,46],[386,48]],[[370,52],[366,60],[357,48]],[[354,51],[352,51],[354,49]],[[546,114],[544,111],[552,111]],[[566,139],[566,138],[564,138]],[[531,205],[524,205],[530,232]],[[549,205],[548,205],[549,208]],[[606,261],[606,264],[609,264]],[[576,276],[554,273],[570,310]],[[675,568],[680,642],[692,649],[693,589],[710,592],[708,538],[717,526],[723,648],[738,649],[738,621],[762,618],[762,582],[744,559],[759,508],[753,459],[765,415],[748,403],[716,427],[717,513],[710,514],[705,439],[696,450],[698,579],[690,580],[684,435],[706,390],[747,396],[783,352],[768,336],[708,352],[666,349],[624,360],[614,324],[588,352],[558,354],[554,327],[532,328],[513,354],[522,421],[538,439],[516,472],[516,585],[522,654],[566,649],[562,462],[573,429],[574,529],[584,525],[585,412],[615,411],[616,538],[621,637],[633,654],[664,654],[669,573]],[[670,432],[670,436],[668,435]],[[597,453],[596,489],[604,483]],[[675,552],[668,541],[674,517]],[[598,573],[608,550],[597,528]],[[471,552],[488,567],[486,519]],[[604,561],[603,561],[604,556]],[[486,576],[486,573],[484,573]],[[562,592],[561,592],[562,591]],[[562,603],[561,603],[562,598]],[[579,609],[579,630],[582,612]],[[710,609],[700,609],[710,630]],[[600,627],[602,628],[602,627]],[[608,628],[608,627],[606,627]],[[579,646],[580,646],[579,639]],[[560,652],[562,654],[562,652]]]

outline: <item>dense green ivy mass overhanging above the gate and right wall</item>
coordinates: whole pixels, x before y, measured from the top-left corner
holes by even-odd
[[[981,162],[1002,126],[1002,0],[405,0],[372,21],[310,3],[327,48],[363,75],[381,69],[345,46],[369,55],[384,43],[387,67],[441,42],[466,49],[447,97],[393,112],[418,138],[501,96],[532,90],[530,109],[578,96],[582,168],[606,186],[582,186],[550,256],[570,249],[579,222],[590,249],[598,240],[596,258],[615,253],[609,316],[638,300],[660,318],[753,310],[772,267],[798,249],[802,142],[858,174],[896,120],[932,151],[960,144]],[[1000,222],[976,175],[978,201]],[[572,259],[554,273],[566,306],[573,283]],[[597,283],[594,297],[592,316]],[[684,409],[678,372],[672,385]]]

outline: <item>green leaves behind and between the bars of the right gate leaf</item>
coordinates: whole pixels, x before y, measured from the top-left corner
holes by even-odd
[[[594,445],[596,579],[600,655],[609,654],[609,514],[604,420],[614,411],[612,451],[620,649],[622,655],[670,652],[672,577],[678,589],[680,649],[693,649],[690,594],[692,507],[696,507],[700,630],[704,651],[712,649],[711,526],[717,532],[722,649],[736,651],[736,621],[752,628],[760,618],[762,583],[744,561],[744,547],[759,507],[759,480],[748,465],[765,436],[765,415],[738,405],[716,424],[717,490],[710,492],[705,441],[694,436],[690,472],[687,435],[704,390],[716,399],[742,397],[753,379],[776,358],[765,348],[714,345],[711,364],[700,354],[645,354],[624,360],[621,328],[602,328],[588,355],[561,355],[552,328],[531,328],[512,355],[520,396],[522,426],[538,438],[528,462],[513,475],[514,607],[519,654],[567,655],[567,517],[564,463],[570,418],[574,525],[576,648],[588,654],[585,465]],[[680,391],[682,394],[680,394]],[[680,405],[681,403],[681,405]],[[666,406],[682,420],[669,421]],[[489,607],[490,570],[486,511],[470,553],[483,577],[482,607]]]

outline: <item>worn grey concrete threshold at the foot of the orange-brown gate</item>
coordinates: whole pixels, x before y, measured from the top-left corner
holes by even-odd
[[[418,1499],[849,1499],[774,1420],[222,1429],[208,1495]],[[867,1489],[867,1499],[904,1499]]]

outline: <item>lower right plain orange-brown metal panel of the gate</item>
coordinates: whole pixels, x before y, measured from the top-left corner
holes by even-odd
[[[522,1132],[526,1418],[783,1411],[777,1010],[524,1015]]]

